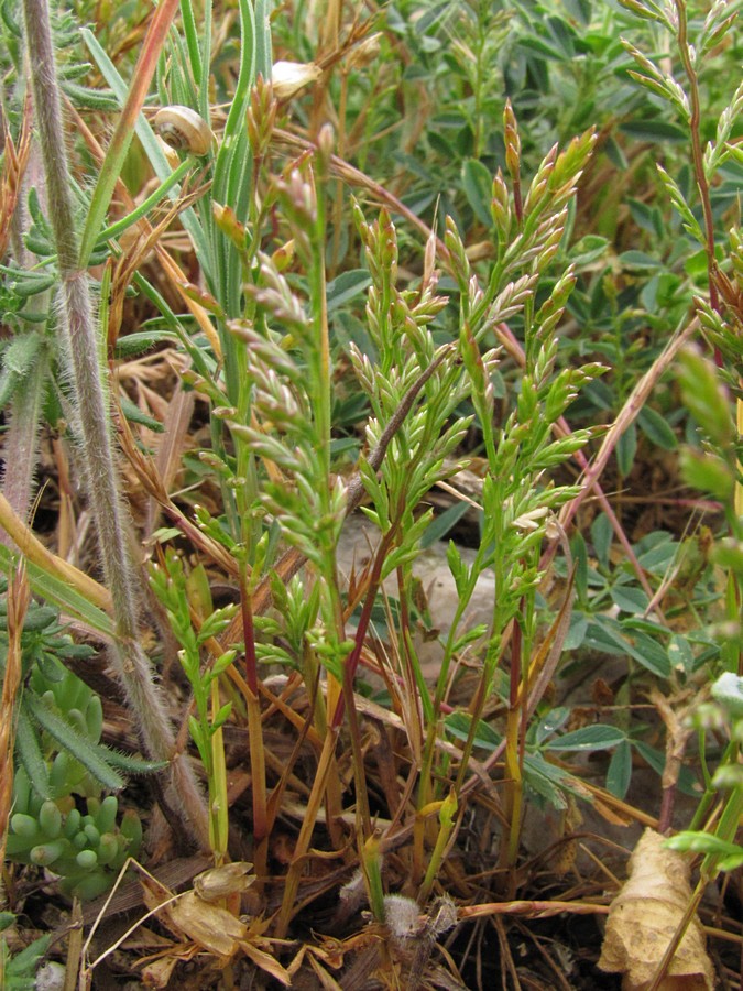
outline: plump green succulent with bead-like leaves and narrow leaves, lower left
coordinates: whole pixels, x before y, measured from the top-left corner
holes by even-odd
[[[6,603],[0,601],[0,675],[8,646],[4,619]],[[56,609],[30,603],[21,647],[23,690],[17,700],[17,767],[6,856],[48,868],[67,895],[96,897],[142,842],[136,813],[124,812],[117,825],[118,799],[112,794],[102,797],[103,792],[121,789],[125,772],[161,765],[100,742],[101,700],[63,663],[86,658],[92,649],[73,642]]]

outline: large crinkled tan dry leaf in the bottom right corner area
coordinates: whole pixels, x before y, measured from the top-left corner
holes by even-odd
[[[630,858],[630,878],[609,911],[599,967],[623,973],[624,991],[649,987],[691,900],[685,859],[646,829]],[[695,916],[658,991],[711,991],[714,971]]]

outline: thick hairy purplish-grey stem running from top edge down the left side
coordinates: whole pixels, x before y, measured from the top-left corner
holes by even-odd
[[[138,576],[127,541],[125,514],[111,443],[110,416],[99,362],[87,273],[77,264],[72,187],[62,106],[54,63],[54,45],[46,0],[24,0],[29,59],[34,72],[32,88],[39,141],[44,160],[48,211],[57,249],[62,281],[61,333],[69,361],[90,509],[96,521],[99,552],[111,591],[117,642],[111,650],[116,674],[149,756],[172,762],[167,799],[183,825],[201,843],[208,843],[204,797],[175,737],[150,661],[139,643]]]

